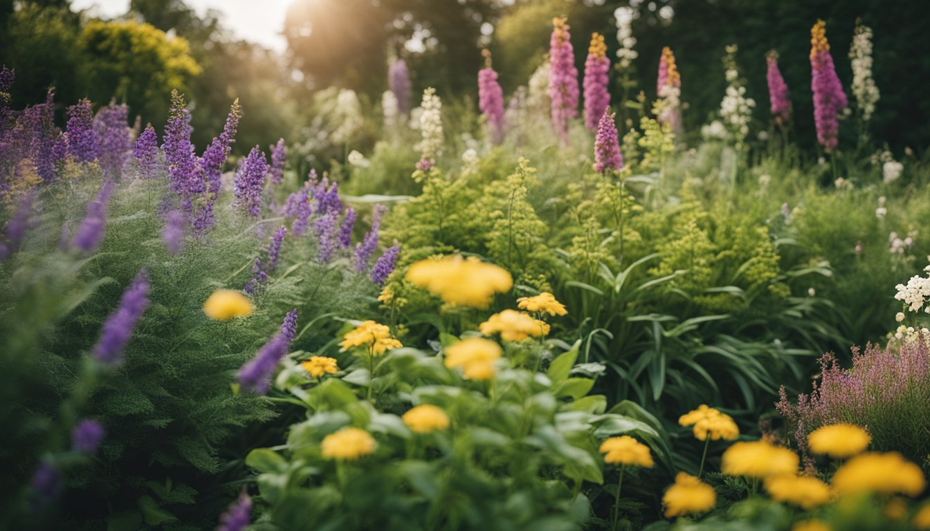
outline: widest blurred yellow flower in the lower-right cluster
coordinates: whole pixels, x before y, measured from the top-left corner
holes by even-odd
[[[833,489],[839,494],[877,492],[917,496],[926,481],[923,471],[897,452],[867,452],[851,458],[833,474]]]

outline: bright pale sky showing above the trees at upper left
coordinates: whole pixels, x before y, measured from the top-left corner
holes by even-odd
[[[222,13],[220,22],[238,38],[246,39],[283,52],[287,43],[281,30],[290,0],[185,0],[184,2],[203,15],[207,9]],[[126,13],[129,0],[72,0],[72,8],[95,9],[103,18],[118,17]]]

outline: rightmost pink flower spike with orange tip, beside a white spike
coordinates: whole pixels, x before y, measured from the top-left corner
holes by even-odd
[[[836,149],[836,137],[840,130],[838,115],[848,101],[833,66],[830,43],[827,42],[827,23],[823,20],[817,20],[811,28],[810,60],[817,141],[827,152],[832,152]]]

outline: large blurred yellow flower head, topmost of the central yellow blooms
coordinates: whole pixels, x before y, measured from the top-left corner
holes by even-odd
[[[509,291],[513,285],[511,273],[503,268],[458,255],[419,260],[407,270],[406,279],[449,304],[475,308],[487,308],[495,293]]]

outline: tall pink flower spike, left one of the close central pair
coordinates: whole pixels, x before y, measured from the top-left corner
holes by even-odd
[[[563,144],[568,143],[568,123],[578,116],[578,69],[571,33],[564,18],[552,19],[549,41],[549,98],[552,126]]]

